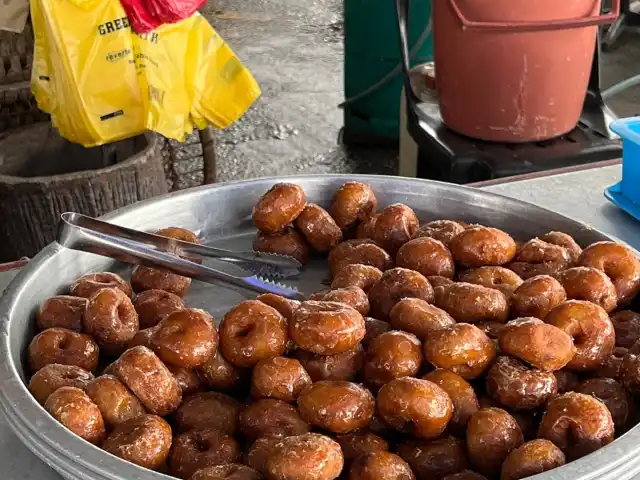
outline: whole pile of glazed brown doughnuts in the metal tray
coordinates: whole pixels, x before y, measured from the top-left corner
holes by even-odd
[[[253,220],[256,250],[328,254],[330,289],[243,301],[217,329],[185,305],[188,278],[88,274],[39,310],[36,400],[105,451],[192,480],[516,480],[635,425],[626,246],[420,225],[356,182],[328,211],[277,184]]]

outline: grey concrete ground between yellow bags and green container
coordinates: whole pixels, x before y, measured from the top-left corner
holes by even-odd
[[[296,173],[396,171],[395,149],[339,144],[343,100],[340,0],[209,0],[203,13],[262,87],[237,124],[219,132],[220,181]],[[604,56],[603,87],[640,73],[640,33]],[[640,88],[610,102],[640,114]]]

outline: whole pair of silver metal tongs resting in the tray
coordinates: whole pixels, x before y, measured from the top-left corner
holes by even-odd
[[[253,251],[233,252],[183,242],[73,212],[61,215],[57,241],[72,250],[95,253],[133,265],[164,268],[207,283],[225,283],[254,292],[303,298],[295,288],[271,280],[299,273],[301,265],[291,257]],[[191,261],[201,257],[233,264],[239,274],[230,274]]]

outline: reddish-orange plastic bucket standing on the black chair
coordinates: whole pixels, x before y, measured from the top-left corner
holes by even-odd
[[[601,0],[434,0],[436,87],[444,123],[496,142],[558,137],[578,123]]]

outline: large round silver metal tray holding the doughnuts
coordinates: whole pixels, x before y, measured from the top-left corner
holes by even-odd
[[[201,187],[142,202],[104,218],[129,227],[153,230],[169,225],[196,231],[206,243],[247,248],[254,229],[250,214],[256,200],[283,179],[261,179]],[[380,202],[403,202],[413,207],[421,221],[461,219],[502,228],[526,240],[549,230],[573,235],[583,244],[607,240],[587,225],[543,208],[499,195],[457,185],[426,180],[381,176],[300,176],[287,181],[300,184],[309,201],[326,206],[345,181],[369,183]],[[295,283],[304,293],[322,288],[323,261],[312,263]],[[80,275],[120,269],[108,259],[46,247],[16,277],[0,303],[0,407],[7,423],[38,457],[66,478],[86,480],[160,480],[164,475],[124,462],[76,437],[38,405],[25,386],[24,352],[34,334],[33,316],[38,305],[65,291]],[[247,298],[253,296],[250,292]],[[243,298],[224,287],[194,282],[187,302],[210,311],[218,320]],[[564,467],[541,474],[536,480],[631,479],[640,472],[640,427],[611,445]]]

